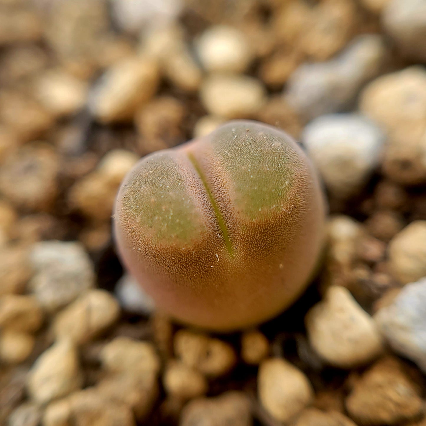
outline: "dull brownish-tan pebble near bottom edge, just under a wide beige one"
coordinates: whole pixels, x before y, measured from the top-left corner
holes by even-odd
[[[150,414],[158,397],[158,380],[155,372],[107,376],[95,386],[96,391],[114,403],[130,407],[138,420]]]

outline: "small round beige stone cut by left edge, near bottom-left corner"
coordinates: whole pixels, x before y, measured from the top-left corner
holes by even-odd
[[[0,360],[6,364],[25,361],[34,348],[35,338],[19,331],[3,330],[0,333]]]

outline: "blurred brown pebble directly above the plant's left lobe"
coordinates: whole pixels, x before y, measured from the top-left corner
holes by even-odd
[[[171,96],[155,98],[139,109],[135,114],[139,152],[145,155],[184,142],[186,113],[184,104]]]

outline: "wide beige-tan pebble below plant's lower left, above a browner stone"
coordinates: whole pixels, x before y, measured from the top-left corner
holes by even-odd
[[[112,372],[150,371],[157,374],[160,359],[155,346],[149,342],[139,342],[128,337],[116,337],[102,349],[102,366]]]

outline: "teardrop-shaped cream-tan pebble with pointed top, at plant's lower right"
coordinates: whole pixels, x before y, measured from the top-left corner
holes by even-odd
[[[374,320],[346,288],[328,288],[324,299],[308,311],[305,324],[309,343],[331,366],[362,366],[383,351]]]

